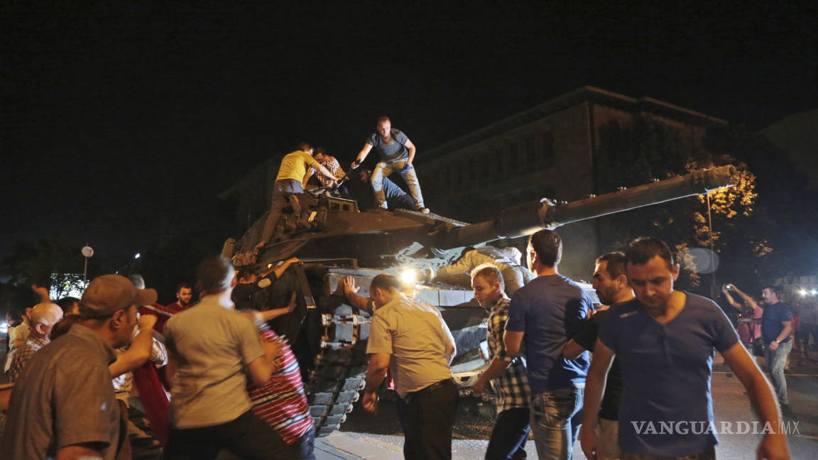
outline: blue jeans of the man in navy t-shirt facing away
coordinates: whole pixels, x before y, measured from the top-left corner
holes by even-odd
[[[582,425],[585,387],[559,388],[534,395],[531,429],[540,460],[571,460]]]

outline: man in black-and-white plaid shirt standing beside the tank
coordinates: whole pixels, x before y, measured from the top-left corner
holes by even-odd
[[[509,298],[503,276],[494,265],[483,264],[471,272],[471,286],[480,306],[492,312],[488,315],[486,333],[492,361],[472,388],[475,396],[482,395],[486,382],[492,381],[497,393],[497,423],[488,441],[486,458],[526,458],[525,442],[528,431],[531,431],[528,424],[528,380],[525,376],[525,357],[510,357],[503,344],[503,332],[509,316]]]

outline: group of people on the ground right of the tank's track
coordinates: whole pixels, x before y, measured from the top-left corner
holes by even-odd
[[[776,377],[788,348],[789,310],[774,286],[762,293],[768,306],[757,322],[775,391],[726,313],[674,288],[680,267],[663,241],[639,238],[596,260],[600,308],[559,273],[556,232],[534,233],[526,255],[536,277],[510,297],[496,259],[470,271],[474,297],[490,312],[488,368],[473,388],[482,395],[490,385],[497,396],[487,459],[526,458],[529,433],[538,458],[570,459],[578,439],[592,459],[715,458],[715,352],[766,427],[757,433],[758,458],[789,458],[780,424],[789,401]],[[401,397],[405,458],[452,458],[457,399],[448,364],[456,350],[440,313],[402,293],[389,275],[373,280],[368,299],[357,295],[353,280],[342,284],[353,305],[373,313],[363,407],[374,412],[378,390],[389,381]]]

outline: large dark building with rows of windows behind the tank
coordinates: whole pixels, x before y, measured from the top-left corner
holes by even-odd
[[[524,201],[613,192],[627,184],[612,177],[614,165],[651,155],[662,161],[663,152],[634,146],[633,131],[645,123],[671,133],[681,156],[696,159],[706,156],[708,129],[726,121],[649,97],[579,88],[419,154],[425,200],[436,214],[474,223]],[[590,278],[599,224],[572,223],[558,231],[562,273]]]

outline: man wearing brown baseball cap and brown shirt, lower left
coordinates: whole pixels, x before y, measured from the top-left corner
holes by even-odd
[[[7,458],[115,458],[119,406],[108,365],[128,345],[137,305],[156,301],[126,277],[95,278],[79,301],[80,321],[43,346],[11,394],[0,452]]]

